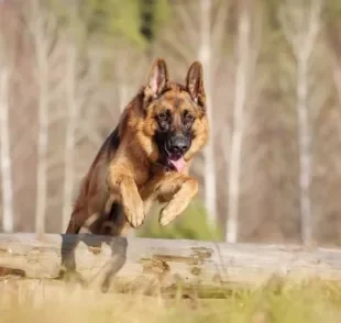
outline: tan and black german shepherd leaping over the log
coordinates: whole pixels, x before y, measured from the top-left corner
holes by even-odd
[[[161,225],[179,215],[198,191],[188,170],[208,141],[205,99],[199,62],[180,85],[156,59],[82,180],[66,233],[124,236],[143,223],[154,201],[167,203]]]

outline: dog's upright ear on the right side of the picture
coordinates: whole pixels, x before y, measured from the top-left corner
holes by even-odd
[[[205,108],[205,88],[204,88],[204,71],[200,62],[194,62],[187,71],[186,90],[189,92],[191,99],[200,107]]]

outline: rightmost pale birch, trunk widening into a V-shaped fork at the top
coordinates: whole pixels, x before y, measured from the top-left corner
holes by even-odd
[[[309,62],[320,29],[321,0],[306,2],[287,0],[280,8],[279,19],[287,42],[296,58],[296,109],[299,145],[299,189],[301,241],[312,240],[311,183],[311,130],[309,124]]]

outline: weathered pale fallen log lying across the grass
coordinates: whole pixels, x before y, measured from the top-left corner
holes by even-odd
[[[156,277],[163,288],[180,282],[204,289],[258,286],[273,276],[341,281],[341,249],[98,235],[0,234],[0,267],[26,278],[56,279],[62,241],[65,252],[79,238],[75,260],[88,286],[103,285],[109,276],[110,286]]]

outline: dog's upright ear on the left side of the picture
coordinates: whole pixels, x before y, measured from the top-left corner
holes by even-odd
[[[168,69],[166,62],[162,58],[157,58],[150,71],[148,81],[146,86],[146,92],[148,96],[156,98],[167,86],[168,82]]]

